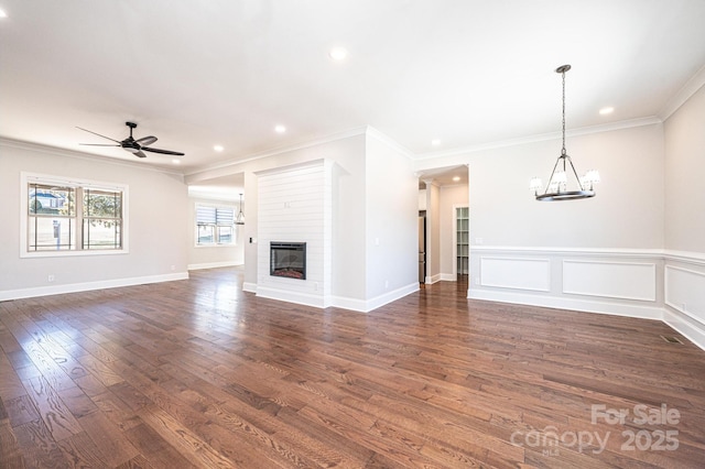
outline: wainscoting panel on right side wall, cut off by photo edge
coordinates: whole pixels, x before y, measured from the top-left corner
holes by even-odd
[[[705,273],[665,266],[665,304],[705,325]]]

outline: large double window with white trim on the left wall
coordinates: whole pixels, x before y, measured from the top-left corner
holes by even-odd
[[[21,255],[126,251],[126,186],[23,173],[22,190]]]

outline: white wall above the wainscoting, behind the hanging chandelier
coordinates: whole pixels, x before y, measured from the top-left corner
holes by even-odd
[[[663,128],[636,127],[568,138],[584,174],[599,170],[597,196],[540,203],[533,176],[547,181],[561,142],[543,141],[467,155],[473,240],[485,246],[542,248],[663,248]]]

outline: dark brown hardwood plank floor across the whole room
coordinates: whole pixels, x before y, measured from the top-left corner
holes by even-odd
[[[322,310],[216,269],[2,302],[0,467],[703,467],[703,350],[465,291]]]

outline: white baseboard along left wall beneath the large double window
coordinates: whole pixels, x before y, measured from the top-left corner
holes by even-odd
[[[148,275],[129,279],[104,280],[99,282],[69,283],[64,285],[40,286],[35,288],[6,290],[0,292],[0,302],[8,299],[32,298],[35,296],[61,295],[64,293],[89,292],[93,290],[118,288],[120,286],[143,285],[145,283],[187,280],[188,272],[163,275]]]

